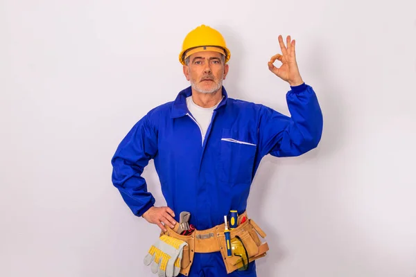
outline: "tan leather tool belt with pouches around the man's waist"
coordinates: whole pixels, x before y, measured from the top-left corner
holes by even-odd
[[[241,222],[242,217],[246,217],[247,220]],[[260,227],[251,219],[247,217],[247,213],[243,213],[238,217],[238,226],[236,229],[229,231],[231,239],[238,235],[248,252],[248,258],[250,262],[266,256],[266,252],[269,250],[267,242],[261,242],[261,238],[266,238],[266,233],[260,229]],[[175,224],[175,228],[171,229],[165,225],[166,232],[160,233],[160,235],[169,235],[173,238],[183,240],[187,242],[187,246],[183,249],[183,256],[181,262],[180,273],[188,276],[189,270],[191,269],[193,254],[194,253],[211,253],[220,251],[223,256],[225,268],[227,274],[239,268],[239,257],[227,256],[227,248],[225,245],[225,224],[217,225],[207,230],[195,230],[191,235],[180,235],[176,233],[179,224]]]

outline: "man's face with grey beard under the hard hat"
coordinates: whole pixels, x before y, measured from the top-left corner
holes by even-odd
[[[191,82],[193,90],[200,93],[214,93],[221,89],[228,73],[221,54],[214,51],[201,51],[189,57],[184,66],[184,75]]]

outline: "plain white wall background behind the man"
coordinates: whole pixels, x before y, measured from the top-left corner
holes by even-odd
[[[189,83],[207,24],[232,52],[229,96],[288,114],[268,71],[292,35],[324,114],[317,149],[265,157],[248,210],[259,276],[416,276],[415,1],[0,1],[0,276],[153,276],[158,227],[132,215],[110,159]],[[165,204],[153,163],[144,177]]]

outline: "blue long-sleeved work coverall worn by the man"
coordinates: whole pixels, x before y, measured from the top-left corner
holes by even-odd
[[[264,105],[228,98],[214,110],[202,143],[186,98],[151,109],[119,144],[112,158],[112,181],[132,213],[143,215],[155,204],[141,174],[150,159],[168,207],[179,222],[182,211],[203,230],[222,224],[230,210],[245,211],[250,185],[266,154],[294,157],[315,148],[322,135],[322,111],[308,84],[291,87],[286,100],[291,117]],[[249,271],[227,275],[220,253],[195,253],[189,276],[256,276]]]

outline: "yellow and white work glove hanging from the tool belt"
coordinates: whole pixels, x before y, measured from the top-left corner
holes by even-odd
[[[144,257],[144,264],[152,263],[152,272],[159,277],[174,277],[180,272],[180,261],[183,249],[187,242],[162,235],[155,244],[150,247]]]

